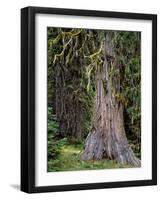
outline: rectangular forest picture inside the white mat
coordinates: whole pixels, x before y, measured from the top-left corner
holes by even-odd
[[[48,172],[141,167],[141,33],[47,28]]]

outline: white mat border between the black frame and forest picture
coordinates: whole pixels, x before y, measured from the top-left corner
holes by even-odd
[[[47,173],[47,27],[141,31],[141,168]],[[36,16],[36,186],[151,179],[151,21]],[[147,42],[148,41],[148,42]],[[43,91],[43,92],[42,92]]]

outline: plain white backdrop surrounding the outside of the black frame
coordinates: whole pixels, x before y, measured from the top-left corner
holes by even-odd
[[[20,183],[20,8],[28,5],[97,9],[125,12],[158,14],[161,18],[160,0],[5,0],[0,6],[0,199],[160,199],[161,175],[158,171],[158,186],[121,189],[102,189],[46,194],[25,194],[19,191]],[[158,23],[159,24],[159,23]],[[161,28],[158,26],[158,35]],[[158,44],[161,44],[158,38]],[[161,46],[158,45],[158,52]],[[159,55],[159,53],[158,53]],[[161,70],[158,58],[158,86],[161,84]],[[160,79],[160,80],[159,80]],[[159,87],[158,87],[159,88]],[[158,89],[159,92],[159,89]],[[158,102],[161,94],[158,93]],[[160,113],[159,113],[160,112]],[[161,152],[161,107],[158,104],[158,154]],[[158,156],[158,169],[161,160]]]

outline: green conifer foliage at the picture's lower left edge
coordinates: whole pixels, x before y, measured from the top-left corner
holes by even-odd
[[[67,142],[66,138],[59,139],[59,126],[52,108],[48,107],[48,160],[55,159],[60,153],[62,146]]]

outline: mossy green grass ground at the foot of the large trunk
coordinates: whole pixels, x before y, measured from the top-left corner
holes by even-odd
[[[48,161],[48,172],[76,171],[91,169],[131,168],[129,165],[118,164],[112,160],[81,161],[82,144],[67,144],[61,148],[57,159]]]

